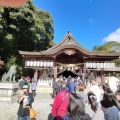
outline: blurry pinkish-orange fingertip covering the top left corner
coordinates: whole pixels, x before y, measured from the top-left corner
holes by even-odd
[[[28,0],[0,0],[0,6],[15,8],[24,5],[27,1]]]

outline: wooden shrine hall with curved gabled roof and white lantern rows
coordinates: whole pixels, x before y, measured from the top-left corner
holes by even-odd
[[[90,44],[90,43],[89,43]],[[19,51],[25,60],[25,68],[34,69],[34,79],[57,78],[58,76],[81,79],[100,78],[104,83],[104,74],[120,71],[111,61],[120,58],[120,53],[100,53],[89,51],[75,41],[71,33],[53,47],[41,52]]]

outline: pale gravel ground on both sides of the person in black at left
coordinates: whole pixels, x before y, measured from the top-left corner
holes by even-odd
[[[37,93],[32,104],[37,116],[36,120],[47,120],[48,114],[51,112],[50,104],[53,103],[49,93]],[[17,120],[17,111],[19,104],[0,104],[0,120]]]

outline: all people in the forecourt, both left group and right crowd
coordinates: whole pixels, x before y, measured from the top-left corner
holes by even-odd
[[[48,120],[120,120],[120,90],[113,92],[109,85],[103,85],[103,94],[96,80],[90,81],[91,87],[85,92],[84,82],[75,78],[53,79],[53,103]],[[29,77],[19,81],[18,120],[35,120],[30,117],[32,97],[36,95],[36,82]],[[32,97],[30,96],[30,88]]]

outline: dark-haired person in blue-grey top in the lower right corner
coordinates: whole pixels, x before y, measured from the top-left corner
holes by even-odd
[[[105,120],[120,120],[120,103],[108,85],[103,85],[103,99],[100,101]]]

